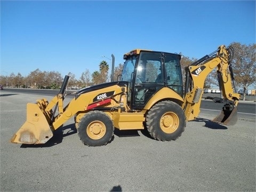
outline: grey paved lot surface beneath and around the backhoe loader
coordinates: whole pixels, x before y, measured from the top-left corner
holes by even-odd
[[[10,143],[26,121],[27,102],[36,99],[36,94],[7,91],[0,97],[0,191],[256,190],[255,118],[226,126],[201,111],[176,141],[115,131],[101,147],[84,146],[71,118],[45,145]]]

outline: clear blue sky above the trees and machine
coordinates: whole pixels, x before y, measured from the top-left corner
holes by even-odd
[[[1,1],[1,75],[69,72],[147,49],[201,58],[255,43],[255,1]],[[102,57],[105,56],[105,58]]]

